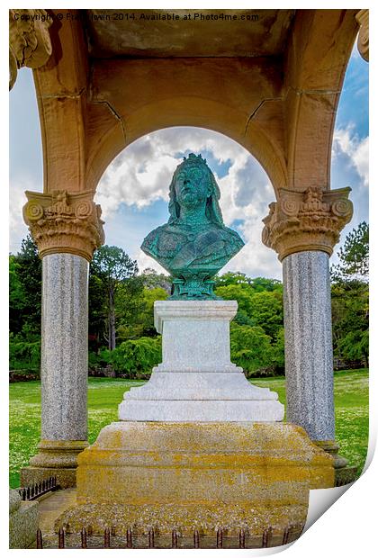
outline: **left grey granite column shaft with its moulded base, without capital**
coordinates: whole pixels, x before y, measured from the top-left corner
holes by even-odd
[[[76,456],[88,445],[88,262],[72,254],[42,260],[41,441],[23,486],[57,476],[76,484]]]

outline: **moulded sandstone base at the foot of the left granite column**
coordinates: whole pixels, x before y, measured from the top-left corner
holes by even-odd
[[[21,485],[30,486],[57,477],[61,488],[75,487],[77,455],[87,446],[85,440],[41,440],[40,451],[31,457],[30,465],[21,470]]]

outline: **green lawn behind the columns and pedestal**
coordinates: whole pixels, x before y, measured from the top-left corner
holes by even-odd
[[[99,431],[117,420],[118,404],[123,392],[144,382],[89,378],[88,428],[92,444]],[[269,387],[284,403],[284,377],[258,378],[253,383]],[[40,382],[10,384],[10,486],[20,485],[19,471],[37,452],[40,441]],[[361,473],[368,443],[368,372],[353,370],[335,374],[336,437],[340,454]]]

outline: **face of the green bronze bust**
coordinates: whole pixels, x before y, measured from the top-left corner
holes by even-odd
[[[195,166],[182,169],[175,179],[175,195],[179,205],[188,209],[206,203],[211,195],[206,173]]]

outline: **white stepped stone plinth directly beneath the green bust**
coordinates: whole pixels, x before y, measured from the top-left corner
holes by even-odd
[[[120,420],[283,420],[277,394],[250,384],[230,362],[229,322],[237,310],[236,301],[155,302],[163,362],[148,383],[124,394]]]

